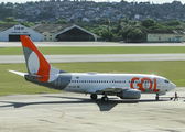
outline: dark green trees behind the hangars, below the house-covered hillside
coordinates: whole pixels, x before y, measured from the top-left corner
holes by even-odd
[[[51,24],[45,21],[39,23],[31,22],[17,22],[13,16],[8,16],[4,21],[0,21],[0,23],[18,23],[31,28],[35,24]],[[55,24],[68,24],[65,19],[58,20]],[[185,23],[177,20],[170,20],[161,23],[156,23],[151,19],[146,19],[144,21],[133,21],[126,19],[120,19],[116,22],[110,22],[109,19],[101,19],[92,22],[84,22],[79,21],[77,24],[99,36],[99,40],[102,41],[124,41],[124,42],[142,42],[144,35],[149,31],[175,31],[176,33],[185,32]]]

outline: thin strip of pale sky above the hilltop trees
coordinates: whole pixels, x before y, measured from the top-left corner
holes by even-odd
[[[25,3],[25,2],[30,2],[30,1],[41,1],[41,0],[1,0],[0,2],[18,2],[18,3]],[[48,0],[42,0],[42,1],[48,1]],[[70,0],[72,1],[72,0]],[[96,2],[105,2],[105,1],[110,1],[110,2],[120,2],[121,0],[92,0],[92,1],[96,1]],[[128,2],[132,2],[133,0],[124,0],[124,1],[128,1]],[[162,3],[165,3],[165,2],[173,2],[174,0],[134,0],[137,2],[146,2],[146,1],[150,1],[151,3],[155,3],[155,4],[162,4]],[[177,0],[177,1],[181,1],[183,4],[185,3],[185,0]]]

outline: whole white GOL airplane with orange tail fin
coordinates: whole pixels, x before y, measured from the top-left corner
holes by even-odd
[[[23,76],[28,81],[63,91],[90,94],[92,100],[102,95],[101,100],[108,101],[108,96],[121,99],[139,99],[141,94],[165,95],[176,86],[166,78],[145,74],[97,74],[67,73],[54,68],[36,48],[26,35],[21,35],[28,74],[9,70]]]

